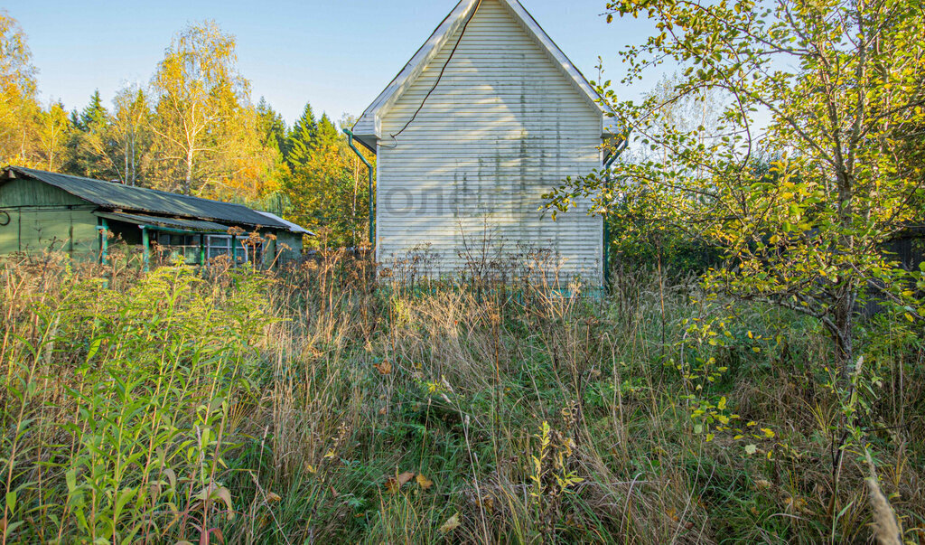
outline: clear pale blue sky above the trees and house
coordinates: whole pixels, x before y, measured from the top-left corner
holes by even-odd
[[[99,89],[109,105],[126,83],[146,84],[174,33],[215,19],[238,38],[241,74],[288,122],[306,102],[338,120],[359,115],[413,56],[457,0],[349,2],[286,0],[7,0],[3,7],[29,37],[43,103],[86,105]],[[522,0],[573,63],[597,79],[623,75],[617,52],[645,40],[643,20],[600,14],[605,0]],[[638,89],[632,90],[636,93]],[[628,92],[632,93],[632,92]]]

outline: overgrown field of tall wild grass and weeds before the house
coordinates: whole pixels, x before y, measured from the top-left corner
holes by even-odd
[[[818,324],[696,279],[371,272],[6,262],[3,543],[925,542],[901,319],[845,400]]]

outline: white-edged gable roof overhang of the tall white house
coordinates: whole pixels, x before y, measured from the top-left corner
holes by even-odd
[[[562,50],[555,42],[549,38],[546,33],[536,22],[536,19],[524,9],[524,6],[518,0],[498,0],[501,6],[507,8],[513,19],[521,24],[526,33],[542,47],[550,60],[562,73],[573,83],[586,99],[589,105],[598,108],[601,116],[610,113],[606,106],[600,103],[600,95],[594,90],[594,87],[587,81],[581,71],[574,66],[568,56],[562,53]],[[424,72],[428,64],[438,56],[443,46],[456,35],[466,23],[466,21],[475,15],[475,10],[481,5],[481,0],[462,0],[450,12],[450,15],[438,25],[437,30],[430,35],[430,38],[417,50],[412,59],[401,68],[401,72],[393,79],[388,87],[379,93],[373,104],[366,108],[363,115],[353,126],[355,138],[364,144],[367,148],[376,152],[376,140],[382,138],[382,117],[388,112],[388,109],[395,104],[401,97],[401,94],[407,90],[414,81]],[[615,124],[610,117],[603,118],[601,126],[602,134],[615,134]]]

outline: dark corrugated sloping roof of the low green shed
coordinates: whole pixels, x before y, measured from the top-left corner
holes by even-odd
[[[26,167],[7,167],[18,177],[40,180],[105,210],[146,212],[166,216],[211,220],[232,225],[268,227],[298,232],[275,217],[265,216],[243,204],[222,203],[190,195],[131,187],[112,181],[68,176]]]

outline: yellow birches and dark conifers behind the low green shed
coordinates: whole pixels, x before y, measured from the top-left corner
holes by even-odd
[[[264,98],[254,105],[235,47],[216,23],[191,24],[148,85],[126,86],[111,105],[93,93],[68,112],[40,103],[26,35],[0,12],[0,163],[249,204],[321,233],[319,244],[361,244],[360,161],[311,105],[292,127]]]

